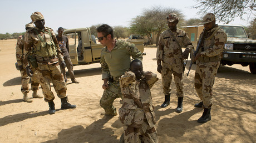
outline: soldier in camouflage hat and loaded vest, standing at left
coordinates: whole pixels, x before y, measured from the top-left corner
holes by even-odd
[[[58,59],[61,60],[63,67],[66,67],[66,64],[61,49],[58,47],[55,33],[51,28],[45,27],[45,18],[40,12],[32,13],[31,19],[36,27],[26,31],[24,50],[27,54],[24,64],[27,65],[29,60],[30,64],[37,69],[45,101],[48,102],[50,107],[49,114],[55,114],[56,111],[53,103],[55,96],[51,91],[51,82],[57,96],[61,98],[61,109],[76,108],[76,105],[71,105],[67,102],[67,86],[61,73]],[[29,57],[29,55],[32,56]],[[26,70],[27,74],[31,76],[31,70],[28,67]]]

